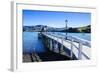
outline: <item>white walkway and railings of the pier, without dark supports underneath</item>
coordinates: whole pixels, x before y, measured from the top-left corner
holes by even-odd
[[[90,47],[91,47],[91,43],[90,41],[87,41],[87,40],[84,40],[84,39],[80,39],[76,36],[65,36],[65,35],[56,35],[54,33],[49,33],[49,32],[43,32],[42,34],[44,34],[45,36],[53,39],[53,40],[56,40],[57,42],[61,43],[62,45],[64,45],[64,42],[65,44],[66,43],[69,43],[70,44],[70,48],[68,48],[68,46],[64,45],[66,48],[70,49],[70,57],[72,58],[73,57],[73,53],[75,54],[76,50],[78,51],[75,56],[77,57],[77,59],[81,60],[83,58],[85,59],[90,59],[90,55],[88,55],[88,53],[90,51],[86,51],[86,50],[90,50]],[[62,42],[58,41],[58,39],[60,39]],[[83,47],[88,47],[87,49],[86,48],[83,48]],[[85,50],[85,51],[82,51],[82,50]]]

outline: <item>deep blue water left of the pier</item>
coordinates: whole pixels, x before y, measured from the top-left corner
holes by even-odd
[[[38,39],[38,32],[23,33],[23,51],[25,53],[46,51],[42,40]]]

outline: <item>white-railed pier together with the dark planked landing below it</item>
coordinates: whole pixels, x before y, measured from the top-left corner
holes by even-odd
[[[23,55],[23,62],[89,60],[91,43],[76,36],[52,32],[40,32],[38,38],[47,48],[46,52]]]

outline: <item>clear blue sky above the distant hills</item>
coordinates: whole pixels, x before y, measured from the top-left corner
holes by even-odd
[[[39,10],[23,10],[23,25],[47,25],[51,27],[81,27],[91,25],[91,13],[79,12],[53,12]]]

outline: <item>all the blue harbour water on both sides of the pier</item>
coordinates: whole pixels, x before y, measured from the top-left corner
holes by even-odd
[[[58,32],[57,32],[58,33]],[[61,33],[61,32],[60,32]],[[62,33],[66,34],[66,33]],[[79,38],[91,41],[90,33],[67,33],[67,35],[77,36]],[[41,39],[38,39],[38,32],[23,32],[23,52],[45,52],[46,48]]]

